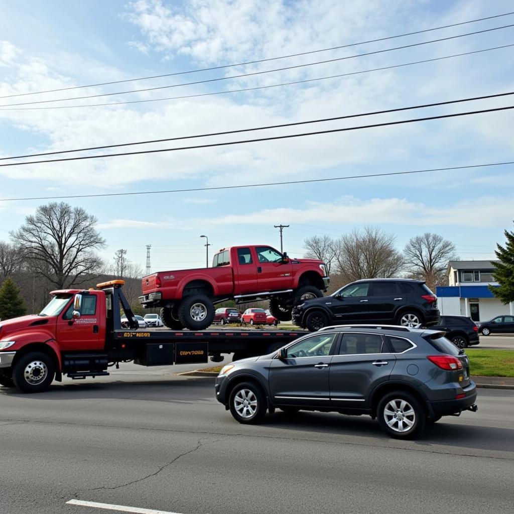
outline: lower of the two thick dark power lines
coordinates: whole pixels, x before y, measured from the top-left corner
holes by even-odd
[[[214,148],[216,146],[229,146],[229,145],[234,145],[234,144],[256,143],[256,142],[261,142],[261,141],[290,139],[290,138],[294,138],[294,137],[314,136],[314,135],[318,135],[318,134],[348,132],[348,131],[354,131],[354,130],[361,130],[362,128],[376,128],[376,127],[389,126],[389,125],[414,123],[414,122],[418,122],[418,121],[438,120],[438,119],[443,119],[443,118],[455,118],[458,116],[469,116],[472,114],[484,114],[484,113],[492,113],[492,112],[496,112],[496,111],[507,111],[508,109],[514,109],[514,105],[510,105],[507,107],[495,107],[492,109],[481,109],[480,111],[468,111],[465,113],[443,114],[443,115],[439,115],[439,116],[428,116],[425,118],[412,118],[409,120],[388,121],[385,123],[373,123],[370,125],[359,125],[359,126],[355,126],[355,127],[332,128],[330,130],[304,132],[301,134],[287,134],[285,136],[272,136],[272,137],[261,137],[261,138],[255,138],[255,139],[243,139],[243,140],[239,140],[239,141],[226,141],[223,143],[195,144],[193,146],[177,146],[176,148],[160,148],[157,150],[139,150],[137,152],[121,152],[118,154],[85,155],[82,157],[65,157],[62,159],[46,159],[46,160],[39,160],[39,161],[9,162],[6,164],[0,164],[0,167],[22,166],[24,164],[42,164],[42,163],[46,163],[46,162],[63,162],[63,161],[84,160],[84,159],[100,159],[100,158],[105,158],[105,157],[119,157],[119,156],[124,156],[124,155],[140,155],[140,154],[155,154],[155,153],[161,153],[161,152],[177,152],[180,150],[196,150],[196,149],[200,149],[200,148]]]

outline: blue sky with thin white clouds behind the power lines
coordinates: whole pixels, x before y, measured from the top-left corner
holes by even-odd
[[[512,10],[510,2],[18,0],[0,5],[0,96],[277,57],[458,23]],[[114,93],[262,71],[502,25],[514,15],[379,43],[0,104]],[[319,78],[514,44],[514,27],[410,49],[109,101],[212,93]],[[514,47],[512,47],[514,48]],[[303,85],[194,99],[70,109],[0,110],[0,156],[159,139],[303,121],[514,90],[512,48]],[[103,101],[102,99],[100,99]],[[75,100],[62,105],[86,105]],[[488,100],[315,125],[314,130],[506,106]],[[50,104],[48,104],[50,105]],[[55,105],[55,104],[53,104]],[[2,109],[2,107],[0,107]],[[0,198],[186,189],[305,180],[514,160],[511,111],[208,150],[0,168]],[[302,132],[305,127],[256,136]],[[210,138],[235,140],[238,135]],[[173,143],[149,145],[166,148]],[[98,217],[115,250],[153,270],[202,266],[212,250],[279,246],[302,255],[314,234],[337,237],[375,225],[399,249],[426,231],[454,242],[462,259],[493,258],[514,219],[512,166],[241,190],[66,200]],[[44,201],[0,201],[0,240]],[[212,253],[211,250],[211,253]]]

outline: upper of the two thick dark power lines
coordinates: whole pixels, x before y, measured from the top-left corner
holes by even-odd
[[[514,46],[514,45],[512,45]],[[479,97],[468,97],[468,98],[461,98],[458,100],[447,100],[444,102],[434,102],[434,103],[426,103],[426,104],[419,104],[419,105],[412,105],[409,107],[397,107],[394,109],[382,109],[382,111],[371,111],[367,113],[359,113],[359,114],[348,114],[345,116],[336,116],[332,118],[321,118],[321,119],[315,119],[315,120],[308,120],[308,121],[296,121],[292,123],[282,123],[279,125],[265,125],[260,127],[254,127],[254,128],[240,128],[238,130],[231,130],[231,131],[224,131],[224,132],[211,132],[206,134],[196,134],[192,136],[178,136],[178,137],[168,137],[164,139],[151,139],[146,141],[135,141],[131,143],[118,143],[118,144],[106,144],[103,146],[88,146],[85,148],[78,148],[75,150],[59,150],[55,152],[43,152],[38,154],[25,154],[25,155],[15,155],[13,157],[0,157],[0,161],[2,160],[9,160],[9,159],[23,159],[26,157],[39,157],[43,155],[56,155],[56,154],[67,154],[67,153],[73,153],[73,152],[85,152],[90,150],[103,150],[105,148],[119,148],[120,146],[134,146],[137,144],[150,144],[150,143],[162,143],[165,141],[178,141],[180,139],[194,139],[194,138],[200,138],[200,137],[211,137],[211,136],[225,136],[228,134],[240,134],[243,132],[254,132],[254,131],[260,131],[260,130],[268,130],[270,128],[283,128],[283,127],[289,127],[289,126],[297,126],[297,125],[306,125],[310,123],[322,123],[326,121],[337,121],[337,120],[343,120],[348,118],[359,118],[362,116],[374,116],[377,114],[388,114],[388,113],[397,113],[400,111],[411,111],[412,109],[423,109],[426,107],[436,107],[440,105],[449,105],[453,103],[462,103],[462,102],[471,102],[474,100],[486,100],[490,98],[499,98],[504,96],[514,95],[514,91],[509,91],[508,93],[498,93],[494,95],[484,95]]]

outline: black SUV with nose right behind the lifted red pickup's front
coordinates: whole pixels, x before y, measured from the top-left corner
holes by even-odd
[[[341,323],[429,326],[439,322],[439,309],[437,297],[421,280],[365,279],[297,305],[292,321],[311,332]]]

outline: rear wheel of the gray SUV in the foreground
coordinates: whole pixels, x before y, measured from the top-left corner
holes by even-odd
[[[405,402],[404,407],[402,407],[403,402]],[[392,404],[396,405],[397,409],[392,408]],[[409,414],[411,410],[413,414]],[[398,411],[401,412],[403,418],[401,421],[397,420],[392,414],[394,412],[395,415],[398,415]],[[387,412],[391,414],[387,414]],[[405,391],[393,391],[386,394],[378,402],[377,418],[382,430],[395,439],[412,439],[423,431],[427,423],[427,415],[423,406],[414,396]],[[406,422],[404,419],[408,421]],[[408,428],[400,428],[400,423],[402,427],[405,423]],[[412,423],[412,426],[409,426],[410,423]]]

